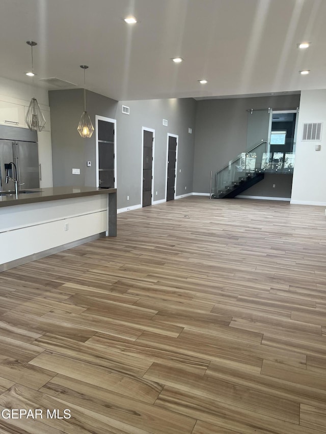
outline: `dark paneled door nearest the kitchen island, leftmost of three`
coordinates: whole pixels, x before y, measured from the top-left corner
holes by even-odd
[[[98,184],[99,187],[114,187],[115,154],[114,123],[98,120]]]

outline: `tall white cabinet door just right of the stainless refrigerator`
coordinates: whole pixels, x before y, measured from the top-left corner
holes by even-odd
[[[37,133],[39,146],[40,187],[52,187],[52,149],[51,133],[41,131]]]

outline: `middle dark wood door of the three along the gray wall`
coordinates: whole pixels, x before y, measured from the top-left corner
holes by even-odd
[[[152,205],[153,132],[143,133],[143,207]]]

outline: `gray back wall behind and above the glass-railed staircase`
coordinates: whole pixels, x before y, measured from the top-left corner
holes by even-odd
[[[246,110],[267,107],[291,109],[298,107],[299,103],[300,95],[198,101],[193,191],[208,193],[210,170],[214,174],[229,160],[246,150],[248,119]],[[269,196],[270,194],[267,194],[267,191],[264,194],[260,190],[257,195]],[[278,195],[278,197],[290,196]]]

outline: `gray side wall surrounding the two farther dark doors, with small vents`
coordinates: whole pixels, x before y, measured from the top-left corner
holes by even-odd
[[[129,115],[122,113],[122,105],[130,107]],[[196,101],[192,98],[121,101],[118,112],[119,208],[141,203],[142,127],[155,130],[153,200],[166,199],[168,133],[179,136],[176,195],[191,193]],[[162,124],[163,119],[168,121],[167,127]],[[192,128],[192,134],[188,133],[188,128]]]

